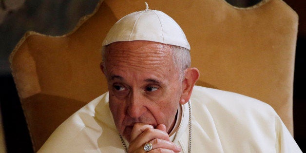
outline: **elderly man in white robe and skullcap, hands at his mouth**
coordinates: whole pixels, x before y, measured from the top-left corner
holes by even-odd
[[[161,11],[120,19],[102,47],[109,92],[68,118],[38,152],[301,153],[268,104],[194,86],[199,71],[189,50]]]

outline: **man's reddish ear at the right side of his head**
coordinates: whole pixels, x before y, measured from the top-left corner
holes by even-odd
[[[197,68],[188,68],[185,70],[185,76],[183,79],[182,96],[180,98],[180,104],[185,104],[189,101],[192,93],[193,86],[198,80],[200,72]]]

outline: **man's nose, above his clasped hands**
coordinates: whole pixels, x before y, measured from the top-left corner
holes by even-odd
[[[145,107],[145,98],[139,92],[132,92],[130,93],[129,104],[127,113],[132,118],[139,118],[147,111]]]

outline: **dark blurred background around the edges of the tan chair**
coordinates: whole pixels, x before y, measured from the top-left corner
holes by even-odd
[[[227,0],[248,7],[261,0]],[[306,152],[306,0],[284,0],[299,15],[293,117],[294,138]],[[0,0],[0,153],[33,153],[19,97],[10,73],[10,53],[27,31],[61,36],[91,14],[98,0]],[[3,146],[3,147],[2,147]]]

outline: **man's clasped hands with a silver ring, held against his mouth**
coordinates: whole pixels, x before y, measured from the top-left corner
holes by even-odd
[[[181,148],[170,141],[166,126],[159,124],[154,128],[152,125],[135,123],[131,132],[129,153],[146,153],[144,145],[152,144],[152,150],[148,153],[179,153]]]

